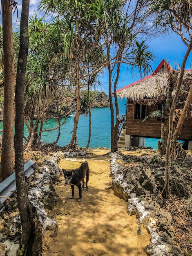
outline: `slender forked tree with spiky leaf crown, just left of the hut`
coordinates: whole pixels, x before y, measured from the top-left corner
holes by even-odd
[[[135,5],[131,1],[126,3],[114,1],[112,8],[106,9],[105,17],[107,17],[107,20],[105,24],[107,26],[105,27],[105,40],[107,42],[106,58],[109,73],[112,152],[118,149],[118,127],[121,122],[116,94],[121,65],[123,63],[124,65],[131,66],[132,71],[134,71],[134,68],[138,68],[140,74],[142,72],[146,74],[151,70],[150,62],[154,58],[145,40],[141,40],[141,42],[138,40],[140,33],[145,34],[145,27],[139,22],[143,8],[144,5],[141,4],[141,1],[136,1]],[[114,97],[114,106],[112,96]],[[116,119],[114,118],[114,112],[116,113]]]

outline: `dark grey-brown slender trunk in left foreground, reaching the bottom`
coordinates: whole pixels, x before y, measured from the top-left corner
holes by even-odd
[[[25,72],[28,54],[28,13],[29,0],[23,0],[20,23],[20,50],[18,58],[17,79],[16,79],[16,121],[15,121],[15,169],[17,200],[20,211],[22,225],[21,244],[27,248],[31,235],[33,220],[30,218],[29,200],[27,197],[24,161],[23,161],[23,135],[24,135],[24,91],[25,91]]]

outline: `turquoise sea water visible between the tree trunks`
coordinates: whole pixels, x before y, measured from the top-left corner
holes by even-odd
[[[126,100],[119,100],[119,113],[120,117],[126,113]],[[92,135],[89,144],[90,148],[106,147],[110,148],[111,141],[111,112],[110,108],[93,108],[92,109]],[[58,141],[58,145],[66,146],[71,141],[71,131],[74,125],[74,115],[67,117],[66,123],[61,126],[61,134]],[[56,127],[55,119],[49,119],[44,125],[44,129]],[[2,129],[2,122],[0,122],[0,130]],[[27,128],[24,129],[24,135],[27,137]],[[42,141],[51,143],[56,140],[58,136],[58,130],[42,132]],[[77,140],[80,147],[87,146],[89,136],[89,118],[80,116]],[[157,149],[157,139],[145,139],[145,146]]]

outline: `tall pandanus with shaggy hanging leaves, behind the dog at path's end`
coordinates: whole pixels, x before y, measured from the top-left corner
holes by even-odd
[[[98,8],[102,1],[65,1],[54,5],[51,1],[42,1],[41,4],[49,11],[58,13],[60,20],[65,21],[63,31],[63,55],[68,58],[69,83],[74,89],[76,97],[76,111],[71,141],[67,148],[78,149],[76,131],[80,116],[80,91],[84,88],[84,79],[92,76],[103,67],[103,53],[100,50],[100,16]],[[56,59],[57,54],[54,59]],[[97,59],[97,63],[95,61]],[[98,67],[96,69],[96,67]],[[86,72],[89,70],[89,72]],[[91,70],[91,71],[90,71]],[[69,88],[69,87],[68,87]]]

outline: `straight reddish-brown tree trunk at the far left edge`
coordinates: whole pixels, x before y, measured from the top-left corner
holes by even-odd
[[[12,7],[10,3],[10,0],[2,0],[4,111],[0,182],[5,180],[9,175],[11,175],[11,173],[13,173],[15,70],[11,13]]]

